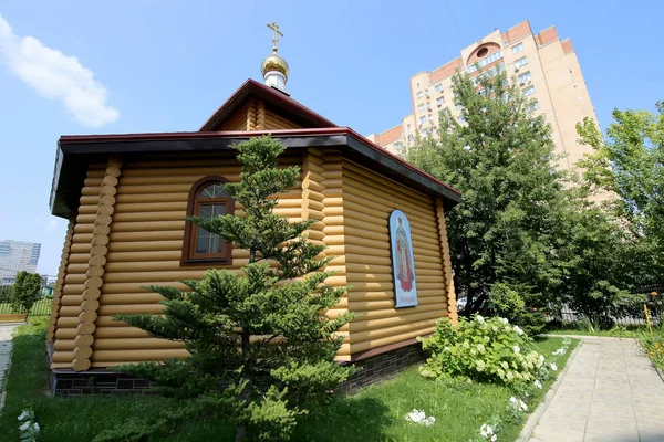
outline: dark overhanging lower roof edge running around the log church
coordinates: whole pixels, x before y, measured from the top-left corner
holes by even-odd
[[[347,127],[315,129],[166,133],[62,136],[58,141],[51,189],[51,213],[69,218],[77,210],[87,165],[110,154],[167,154],[230,150],[249,138],[271,135],[287,148],[339,148],[345,158],[378,171],[423,193],[443,199],[446,209],[460,201],[460,193],[425,171],[390,154]]]

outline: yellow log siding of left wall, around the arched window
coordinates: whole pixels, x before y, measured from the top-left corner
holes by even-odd
[[[301,161],[300,154],[287,152],[280,164],[292,166]],[[180,343],[152,338],[145,332],[113,320],[113,315],[159,313],[160,296],[143,287],[155,284],[185,290],[178,280],[204,276],[205,265],[180,265],[188,192],[207,175],[221,175],[237,181],[240,172],[231,152],[196,159],[190,156],[127,157],[113,196],[114,210],[108,212],[100,203],[104,166],[93,167],[87,173],[82,206],[72,229],[62,306],[54,330],[53,368],[72,367],[74,358],[84,357],[91,367],[111,367],[186,356]],[[299,181],[280,197],[277,213],[292,220],[302,219],[301,187]],[[242,213],[242,207],[236,203],[236,214]],[[100,224],[100,219],[107,220],[105,217],[111,217],[113,222],[106,240],[100,240],[94,234],[95,222]],[[93,248],[96,248],[94,252]],[[95,259],[101,253],[105,262]],[[232,257],[229,269],[239,273],[249,255],[236,249]],[[103,266],[102,272],[91,272],[98,265]],[[103,284],[96,287],[101,278]],[[98,305],[84,304],[84,291],[98,291]],[[83,322],[80,316],[90,325],[79,327]],[[89,337],[82,337],[85,335]],[[90,351],[76,350],[87,346]]]

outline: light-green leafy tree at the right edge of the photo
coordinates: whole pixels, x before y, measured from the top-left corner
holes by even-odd
[[[650,269],[644,283],[664,278],[664,102],[656,107],[657,114],[614,109],[606,139],[590,118],[577,125],[580,143],[594,150],[579,162],[584,179],[619,197],[618,215],[641,240],[640,261]]]

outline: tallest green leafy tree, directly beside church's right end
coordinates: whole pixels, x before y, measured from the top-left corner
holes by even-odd
[[[562,175],[550,127],[533,115],[532,102],[504,73],[479,78],[476,85],[466,73],[454,75],[459,119],[443,110],[438,139],[422,140],[408,159],[461,191],[447,225],[464,313],[477,312],[498,283],[537,307],[562,276],[554,255]]]

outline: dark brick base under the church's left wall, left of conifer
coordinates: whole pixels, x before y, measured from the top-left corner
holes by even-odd
[[[50,390],[53,396],[145,394],[151,385],[145,379],[112,371],[51,371]]]

